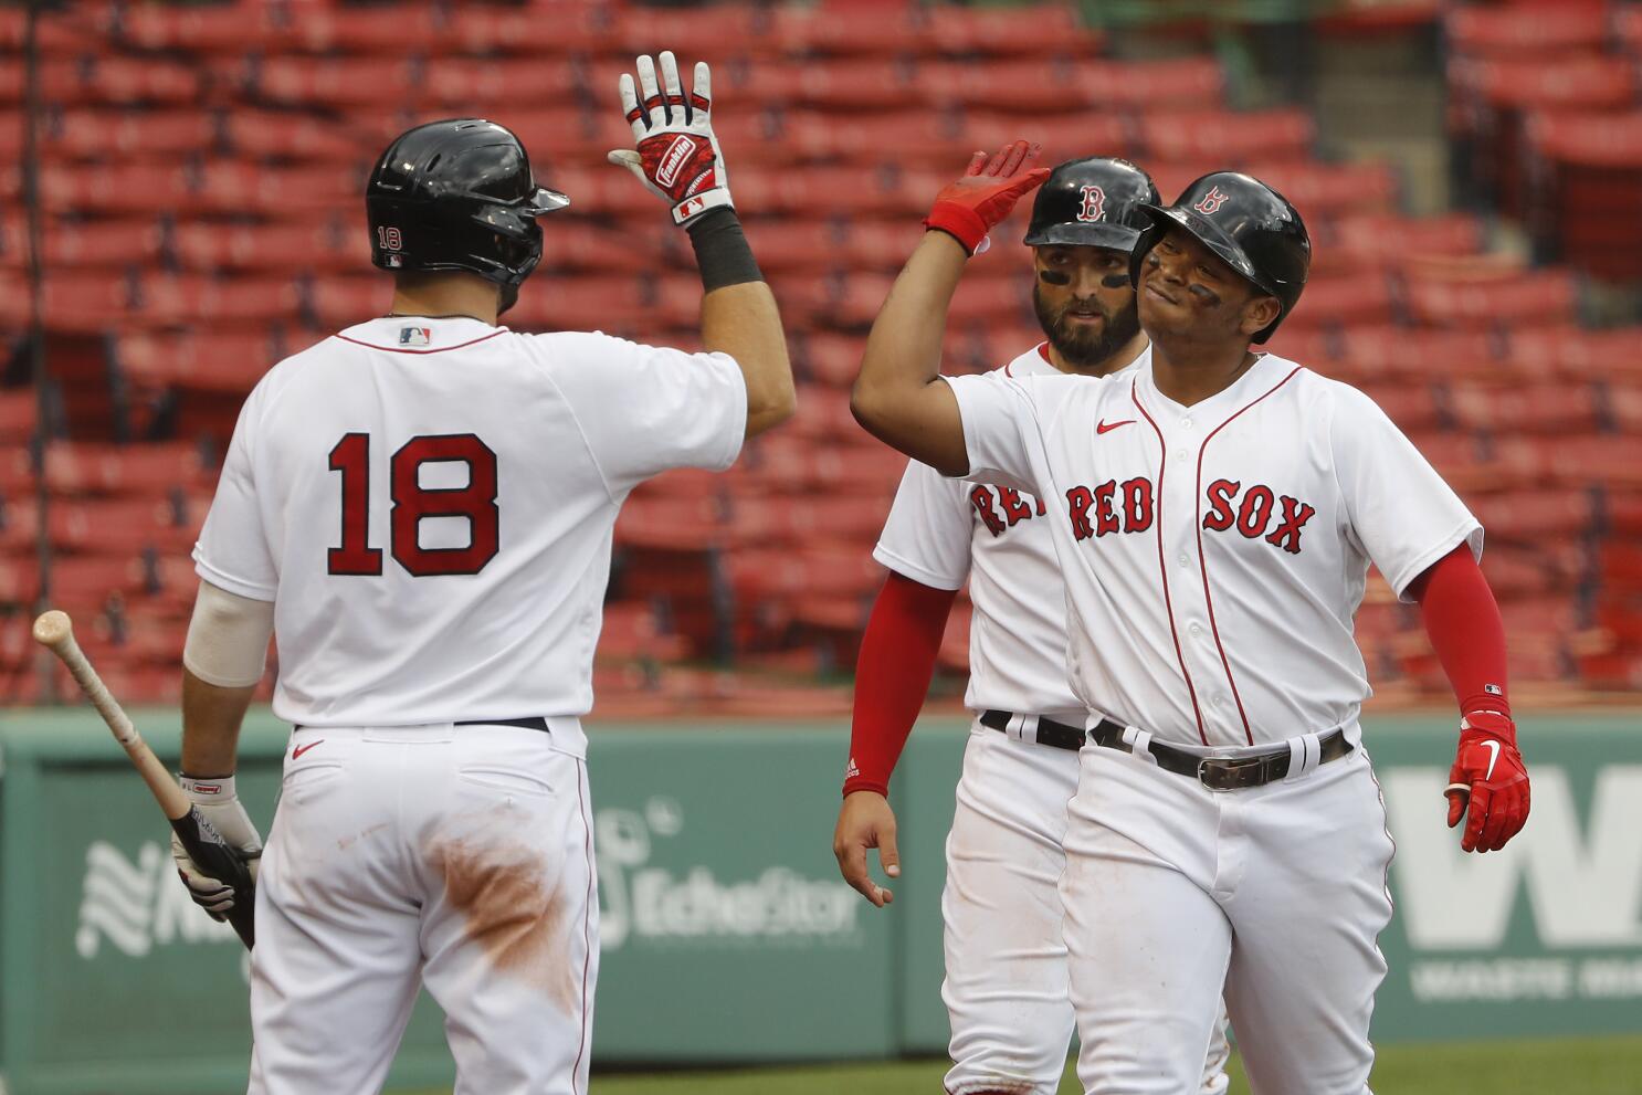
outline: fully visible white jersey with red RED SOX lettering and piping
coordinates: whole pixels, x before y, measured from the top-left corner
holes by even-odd
[[[1348,726],[1371,694],[1351,621],[1483,530],[1363,392],[1261,356],[1182,407],[1115,384],[961,376],[970,478],[1053,499],[1072,690],[1195,745]],[[1112,642],[1125,635],[1125,642]]]

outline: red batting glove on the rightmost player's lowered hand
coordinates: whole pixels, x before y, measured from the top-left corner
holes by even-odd
[[[1529,819],[1529,770],[1517,752],[1517,727],[1498,711],[1460,719],[1460,755],[1448,770],[1448,827],[1465,818],[1460,847],[1498,852]]]

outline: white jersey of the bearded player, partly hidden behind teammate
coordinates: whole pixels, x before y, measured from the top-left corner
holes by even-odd
[[[1061,376],[1046,353],[1041,343],[995,374]],[[1149,356],[1148,346],[1113,378]],[[1066,593],[1044,502],[1008,486],[949,479],[911,461],[872,557],[936,589],[957,589],[969,580],[975,611],[964,704],[970,711],[1054,716],[1084,709],[1066,676]]]

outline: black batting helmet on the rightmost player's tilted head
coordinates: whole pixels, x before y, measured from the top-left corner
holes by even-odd
[[[1174,205],[1146,205],[1143,213],[1151,223],[1130,253],[1130,277],[1136,286],[1141,259],[1169,225],[1179,225],[1254,282],[1256,289],[1282,304],[1277,318],[1261,328],[1253,341],[1271,338],[1294,310],[1312,264],[1312,241],[1299,210],[1259,179],[1236,171],[1217,171],[1186,187]]]

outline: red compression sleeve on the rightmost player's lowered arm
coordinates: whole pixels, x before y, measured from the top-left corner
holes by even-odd
[[[1494,591],[1465,543],[1437,560],[1409,589],[1420,602],[1425,634],[1453,685],[1460,714],[1499,711],[1506,699],[1506,625]]]

